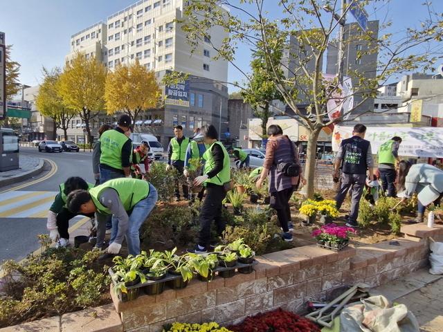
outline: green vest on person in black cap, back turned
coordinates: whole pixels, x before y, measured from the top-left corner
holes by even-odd
[[[115,129],[107,130],[100,136],[100,164],[108,165],[115,169],[122,167],[122,148],[129,138],[124,133]],[[129,158],[132,160],[132,153]]]

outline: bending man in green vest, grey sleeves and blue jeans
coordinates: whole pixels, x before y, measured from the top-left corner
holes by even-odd
[[[115,178],[93,187],[89,192],[75,190],[68,196],[68,208],[73,213],[96,212],[98,219],[97,243],[105,238],[103,225],[112,217],[112,234],[107,255],[120,252],[126,237],[129,255],[140,254],[139,230],[150,215],[158,199],[155,187],[136,178]]]

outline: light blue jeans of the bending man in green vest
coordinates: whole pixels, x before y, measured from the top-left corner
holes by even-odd
[[[157,194],[157,190],[152,184],[150,184],[150,194],[134,205],[132,213],[129,215],[129,225],[126,231],[126,242],[129,255],[140,254],[140,236],[138,231],[147,219],[147,216],[150,215],[158,198],[159,195]],[[112,216],[112,233],[109,243],[114,242],[117,234],[118,219],[115,216]]]

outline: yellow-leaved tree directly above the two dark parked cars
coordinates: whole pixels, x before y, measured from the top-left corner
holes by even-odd
[[[77,112],[63,104],[63,98],[60,95],[60,75],[62,75],[62,70],[58,67],[53,68],[51,71],[43,67],[44,79],[39,87],[35,103],[42,115],[54,120],[55,128],[63,130],[64,139],[67,140],[69,122]]]

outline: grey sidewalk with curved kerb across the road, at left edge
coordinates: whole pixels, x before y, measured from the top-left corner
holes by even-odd
[[[43,171],[44,160],[33,156],[19,156],[19,169],[0,172],[0,187],[26,180]]]

